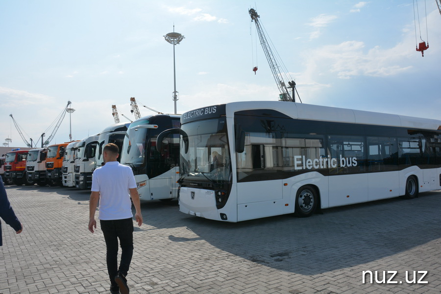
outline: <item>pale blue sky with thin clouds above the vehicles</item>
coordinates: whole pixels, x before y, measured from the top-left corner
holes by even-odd
[[[68,101],[50,144],[98,134],[112,105],[135,120],[131,97],[142,116],[174,113],[173,29],[177,113],[278,100],[249,8],[303,103],[441,120],[436,0],[0,0],[0,143],[25,147],[10,114],[47,140]]]

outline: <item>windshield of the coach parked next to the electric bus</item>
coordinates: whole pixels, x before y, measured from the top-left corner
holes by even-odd
[[[147,120],[131,123],[124,138],[124,150],[121,154],[121,163],[138,168],[143,165],[144,153],[146,150],[146,139],[148,129],[134,127],[148,124]],[[134,128],[134,129],[133,129]]]

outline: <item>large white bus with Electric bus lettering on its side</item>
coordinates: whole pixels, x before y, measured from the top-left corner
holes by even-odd
[[[179,209],[245,221],[441,189],[441,121],[282,101],[184,113]]]

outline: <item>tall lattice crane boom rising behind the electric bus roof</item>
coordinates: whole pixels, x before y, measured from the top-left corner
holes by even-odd
[[[257,14],[256,10],[253,8],[249,9],[248,12],[249,12],[249,15],[251,16],[251,22],[254,21],[254,23],[256,24],[256,29],[257,29],[257,33],[259,35],[260,44],[262,45],[262,49],[264,50],[265,56],[267,57],[268,63],[270,64],[270,69],[271,69],[272,75],[273,75],[274,80],[277,84],[277,87],[279,88],[279,91],[280,91],[280,95],[279,95],[280,100],[293,101],[293,98],[291,97],[291,94],[288,91],[288,88],[293,89],[293,96],[294,96],[295,82],[290,81],[290,82],[288,82],[290,87],[286,86],[285,82],[283,81],[282,74],[280,73],[277,61],[274,57],[274,54],[272,53],[270,44],[268,43],[267,37],[265,36],[265,34],[262,30],[262,27],[259,23],[258,18],[260,16]],[[294,102],[295,102],[295,100],[294,100]]]

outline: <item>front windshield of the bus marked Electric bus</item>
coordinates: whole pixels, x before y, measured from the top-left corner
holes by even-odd
[[[197,181],[229,182],[231,160],[225,119],[185,123],[181,130],[181,180],[190,176]]]

